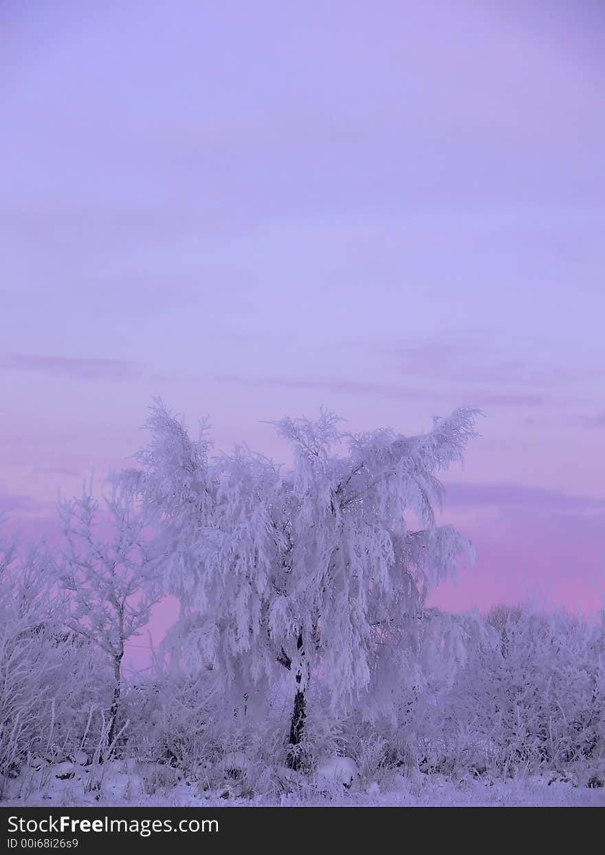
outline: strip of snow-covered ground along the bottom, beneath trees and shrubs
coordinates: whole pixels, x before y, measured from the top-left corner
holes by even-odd
[[[481,778],[448,780],[443,775],[387,774],[380,783],[354,784],[346,789],[336,782],[308,782],[288,773],[276,777],[273,795],[254,796],[245,786],[231,782],[209,789],[204,781],[188,781],[173,769],[157,764],[115,761],[97,769],[73,764],[28,771],[8,782],[5,806],[261,806],[364,805],[364,806],[605,806],[605,787],[579,786],[573,775],[555,772],[525,779]],[[289,792],[284,792],[288,790]]]

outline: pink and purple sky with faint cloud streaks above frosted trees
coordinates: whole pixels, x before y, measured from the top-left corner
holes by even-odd
[[[600,0],[0,4],[0,508],[127,465],[152,396],[485,411],[432,602],[592,610],[605,555]]]

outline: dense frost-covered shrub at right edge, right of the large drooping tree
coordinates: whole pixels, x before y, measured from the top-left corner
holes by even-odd
[[[472,652],[432,727],[448,752],[503,774],[605,752],[605,634],[564,613],[500,610],[497,644]]]

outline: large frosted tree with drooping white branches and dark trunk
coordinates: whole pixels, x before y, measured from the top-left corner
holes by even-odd
[[[462,459],[477,412],[435,418],[416,437],[341,433],[328,412],[285,418],[274,424],[294,466],[282,473],[247,448],[210,457],[205,426],[192,440],[161,401],[152,407],[152,440],[128,479],[161,532],[185,656],[234,698],[289,672],[293,768],[312,676],[335,712],[391,710],[426,594],[470,548],[436,523],[434,473]]]

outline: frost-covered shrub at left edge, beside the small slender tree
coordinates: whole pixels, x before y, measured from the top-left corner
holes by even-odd
[[[0,551],[0,788],[28,758],[62,761],[94,746],[109,713],[103,663],[66,631],[56,580],[43,550]]]

